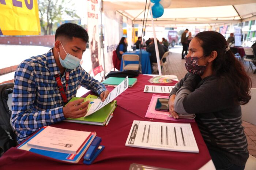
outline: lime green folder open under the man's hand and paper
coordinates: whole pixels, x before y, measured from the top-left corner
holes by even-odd
[[[89,94],[87,97],[82,98],[84,99],[84,102],[87,100],[93,101],[98,96]],[[73,97],[69,102],[75,101],[77,99],[81,99],[81,97]],[[81,123],[81,124],[90,124],[90,125],[108,125],[108,122],[113,117],[114,109],[116,109],[117,102],[114,100],[111,103],[108,103],[108,105],[102,107],[97,112],[86,116],[86,117],[80,117],[80,118],[67,118],[64,121],[67,122],[75,122],[75,123]],[[89,108],[90,109],[90,105]]]

